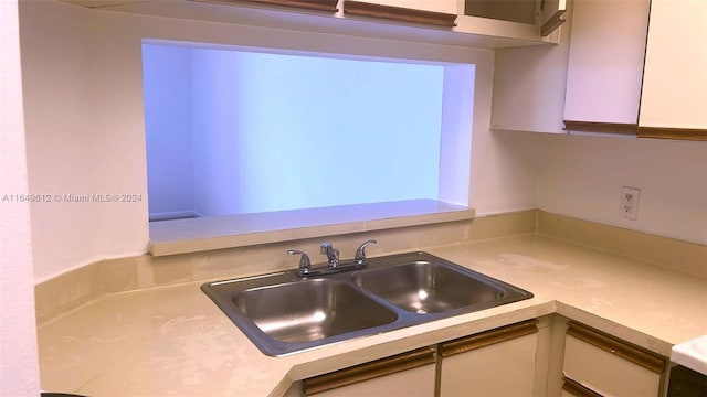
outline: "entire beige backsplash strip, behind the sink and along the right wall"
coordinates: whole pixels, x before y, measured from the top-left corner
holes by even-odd
[[[380,256],[527,234],[557,238],[707,278],[705,245],[540,210],[342,235],[330,242],[340,249],[341,258],[350,258],[356,247],[368,238],[379,242],[368,248],[369,256]],[[291,248],[309,253],[315,264],[323,262],[325,258],[317,255],[321,240],[312,238],[166,257],[140,255],[103,260],[36,285],[36,321],[41,326],[62,313],[108,293],[293,269],[297,267],[297,259],[286,255],[286,250]]]

